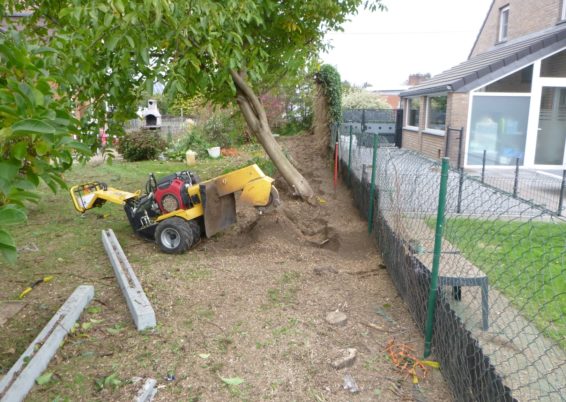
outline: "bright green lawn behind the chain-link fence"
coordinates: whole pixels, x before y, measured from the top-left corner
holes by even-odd
[[[454,218],[445,238],[566,349],[566,223]]]

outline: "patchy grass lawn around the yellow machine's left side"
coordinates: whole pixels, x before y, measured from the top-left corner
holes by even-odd
[[[65,174],[65,181],[69,187],[97,180],[122,190],[145,191],[145,183],[151,172],[159,179],[173,172],[189,169],[206,180],[250,163],[263,164],[266,161],[263,154],[257,145],[244,147],[235,157],[199,159],[197,165],[191,167],[173,161],[114,161],[112,164],[99,166],[77,164]],[[107,203],[100,209],[95,208],[81,215],[74,210],[66,190],[53,194],[47,186],[41,186],[39,193],[40,202],[28,206],[28,222],[11,228],[20,252],[14,265],[0,261],[0,301],[16,300],[18,294],[29,284],[47,275],[53,275],[53,283],[59,284],[65,282],[62,278],[68,278],[69,275],[78,283],[85,280],[90,283],[91,276],[103,276],[108,269],[107,257],[96,251],[103,229],[114,230],[124,248],[145,241],[133,236],[124,210],[118,205]],[[134,256],[131,262],[137,262]],[[86,275],[85,269],[88,270]],[[72,281],[67,282],[69,289],[63,291],[63,294],[70,294],[76,286],[75,283],[70,283]],[[42,287],[48,286],[34,289],[24,302],[30,304],[35,299],[33,293],[42,292]],[[3,353],[10,349],[7,347],[10,339],[17,339],[16,350],[24,350],[63,301],[63,298],[53,296],[50,302],[36,306],[32,317],[12,320],[14,324],[10,330],[5,327],[0,329],[0,374],[5,373],[17,358],[14,353]]]

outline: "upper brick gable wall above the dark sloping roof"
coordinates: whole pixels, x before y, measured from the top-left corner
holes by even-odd
[[[509,5],[508,40],[556,25],[560,19],[562,0],[495,0],[471,56],[483,53],[497,42],[499,10]]]

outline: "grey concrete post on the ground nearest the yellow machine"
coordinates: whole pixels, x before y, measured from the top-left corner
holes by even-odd
[[[156,325],[155,312],[112,229],[102,231],[102,243],[138,331]]]

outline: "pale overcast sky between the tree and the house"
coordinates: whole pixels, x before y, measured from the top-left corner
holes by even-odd
[[[412,73],[438,74],[468,58],[492,0],[384,0],[388,11],[360,11],[321,54],[342,80],[395,88]]]

